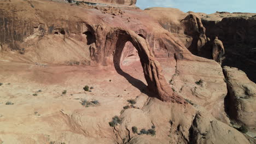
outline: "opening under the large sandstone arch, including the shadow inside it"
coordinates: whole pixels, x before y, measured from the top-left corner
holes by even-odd
[[[143,68],[138,51],[129,39],[119,36],[115,45],[113,61],[118,74],[124,76],[132,86],[138,88],[142,93],[150,95],[146,83],[143,82],[146,80],[143,77]],[[143,81],[139,79],[143,79]]]

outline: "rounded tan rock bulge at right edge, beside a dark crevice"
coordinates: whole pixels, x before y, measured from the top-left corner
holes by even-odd
[[[256,84],[242,70],[231,67],[224,67],[223,70],[228,85],[226,107],[229,116],[238,124],[255,131]]]

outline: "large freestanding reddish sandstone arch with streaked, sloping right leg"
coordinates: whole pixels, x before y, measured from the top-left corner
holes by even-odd
[[[176,95],[166,82],[164,75],[162,75],[162,68],[159,62],[156,61],[153,52],[149,50],[146,40],[135,32],[115,28],[108,33],[104,47],[105,55],[114,51],[113,60],[115,67],[120,68],[121,53],[127,41],[130,41],[138,51],[149,91],[154,92],[156,97],[162,101],[183,103],[184,100]]]

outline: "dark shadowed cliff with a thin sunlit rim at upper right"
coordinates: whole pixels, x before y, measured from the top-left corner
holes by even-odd
[[[218,14],[223,15],[214,19],[214,15],[202,18],[206,35],[210,39],[218,37],[225,47],[223,65],[239,68],[256,82],[255,45],[256,45],[256,17],[255,14]],[[234,17],[230,17],[233,16]],[[242,15],[242,14],[240,14]],[[236,17],[235,17],[236,16]],[[224,17],[224,18],[223,18]]]

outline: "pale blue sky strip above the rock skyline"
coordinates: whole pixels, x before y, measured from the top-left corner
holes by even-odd
[[[256,0],[137,0],[137,7],[178,8],[184,12],[215,13],[216,11],[256,13]]]

